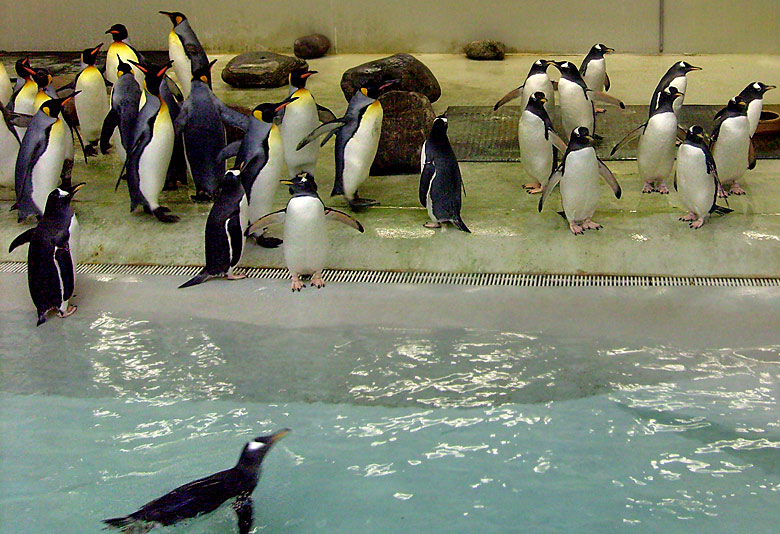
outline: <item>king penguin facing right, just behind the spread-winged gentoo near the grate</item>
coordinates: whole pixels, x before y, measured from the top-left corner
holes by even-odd
[[[284,141],[274,119],[297,99],[297,96],[291,96],[276,104],[257,106],[252,111],[244,139],[231,143],[219,155],[220,161],[236,156],[234,167],[241,169],[241,183],[249,200],[250,221],[271,213],[284,167]],[[276,248],[282,244],[280,239],[266,236],[265,229],[255,237],[255,241],[265,248]]]

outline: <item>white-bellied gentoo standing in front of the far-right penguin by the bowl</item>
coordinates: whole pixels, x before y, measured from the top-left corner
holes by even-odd
[[[712,132],[712,157],[718,168],[718,179],[722,189],[719,195],[744,195],[737,180],[748,169],[756,165],[750,159],[750,121],[747,117],[747,104],[737,96],[729,100],[728,106],[716,115],[715,129]],[[726,191],[728,189],[728,191]]]

